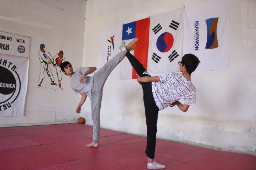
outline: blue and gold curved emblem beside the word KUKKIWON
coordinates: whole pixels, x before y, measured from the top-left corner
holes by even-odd
[[[218,48],[218,38],[217,38],[217,25],[218,18],[206,19],[207,25],[207,42],[206,49]]]

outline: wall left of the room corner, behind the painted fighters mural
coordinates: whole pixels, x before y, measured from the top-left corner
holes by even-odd
[[[62,74],[62,89],[50,85],[45,74],[38,86],[40,44],[55,56],[60,50],[74,67],[81,66],[85,0],[1,0],[0,31],[31,37],[25,116],[0,117],[0,127],[76,122],[79,96]],[[56,73],[55,81],[57,79]],[[58,80],[56,81],[58,84]]]

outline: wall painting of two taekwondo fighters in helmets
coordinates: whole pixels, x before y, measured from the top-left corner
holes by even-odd
[[[52,57],[50,52],[45,50],[45,44],[41,44],[40,50],[38,51],[38,58],[41,64],[38,86],[41,87],[44,85],[43,80],[47,75],[51,81],[51,85],[57,86],[58,81],[58,86],[61,88],[60,64],[65,61],[63,51],[59,51],[54,57]]]

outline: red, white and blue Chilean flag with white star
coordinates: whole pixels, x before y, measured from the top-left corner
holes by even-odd
[[[139,40],[134,45],[134,51],[131,51],[139,62],[147,69],[147,56],[149,48],[149,18],[141,19],[135,22],[122,25],[122,40],[127,45],[134,38]],[[136,71],[132,68],[127,58],[121,62],[120,79],[138,78]]]

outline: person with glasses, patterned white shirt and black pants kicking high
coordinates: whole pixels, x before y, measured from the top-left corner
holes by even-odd
[[[138,38],[136,41],[138,41]],[[146,155],[147,169],[164,169],[166,166],[155,161],[156,132],[158,112],[164,108],[175,105],[186,112],[190,105],[196,104],[196,88],[191,82],[191,73],[200,63],[193,54],[186,54],[178,62],[181,73],[165,73],[151,77],[143,65],[129,52],[132,46],[125,47],[125,41],[120,44],[121,51],[125,53],[132,67],[138,75],[137,81],[142,85],[143,101],[147,125]],[[178,100],[184,99],[184,104]]]

